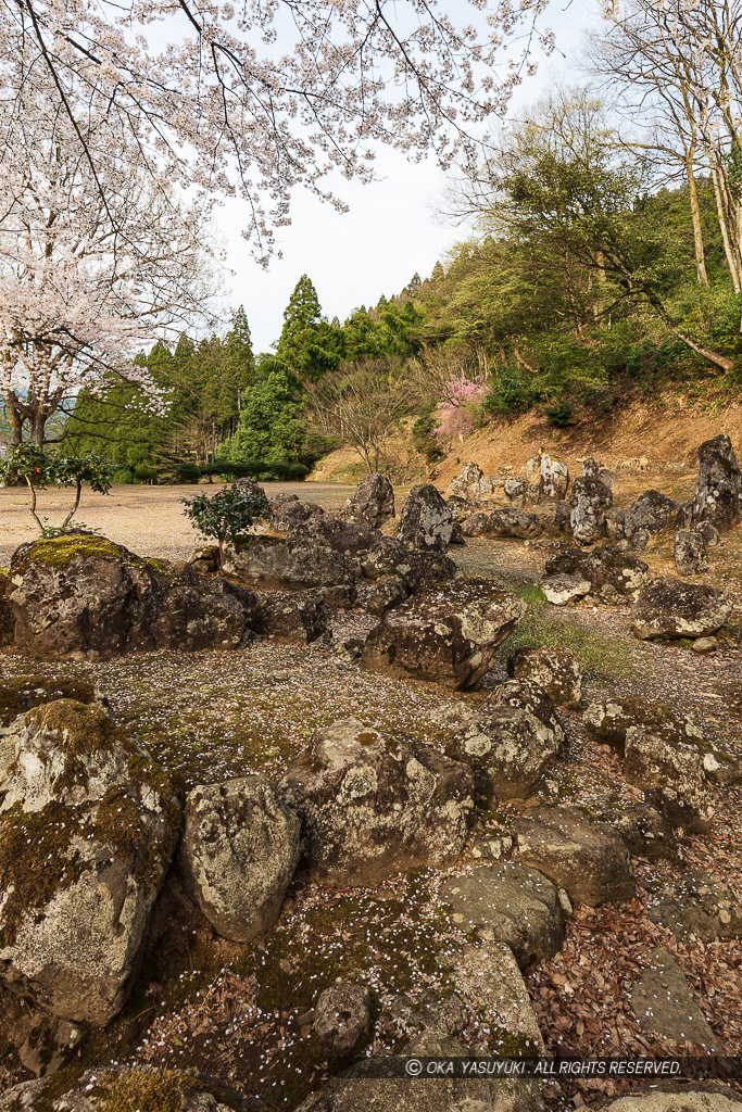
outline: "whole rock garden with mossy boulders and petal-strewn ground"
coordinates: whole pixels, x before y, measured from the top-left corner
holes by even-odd
[[[9,552],[0,1110],[739,1109],[365,1073],[742,1054],[742,475],[698,460],[238,480],[181,559]]]

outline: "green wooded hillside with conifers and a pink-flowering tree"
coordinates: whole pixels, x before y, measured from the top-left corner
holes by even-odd
[[[445,205],[478,231],[424,280],[340,322],[304,275],[271,351],[254,354],[240,307],[224,335],[139,356],[164,414],[135,385],[82,390],[62,438],[120,464],[119,481],[300,477],[338,444],[383,466],[400,423],[433,461],[462,430],[533,407],[564,426],[667,387],[739,388],[740,294],[711,175],[667,180],[585,88],[511,125],[494,165],[453,180]]]

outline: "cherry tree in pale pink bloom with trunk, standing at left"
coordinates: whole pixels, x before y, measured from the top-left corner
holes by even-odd
[[[9,123],[12,111],[0,108],[14,136],[0,160],[0,394],[13,443],[26,429],[41,447],[65,400],[111,376],[162,404],[132,360],[208,304],[208,211],[178,206],[90,101],[86,149],[59,105],[38,97]]]

